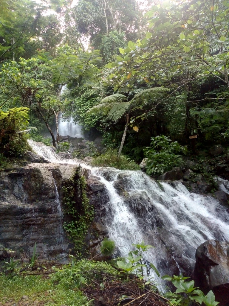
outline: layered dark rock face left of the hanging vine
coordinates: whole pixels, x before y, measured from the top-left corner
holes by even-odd
[[[59,198],[63,179],[74,170],[73,165],[32,163],[0,173],[0,244],[4,248],[15,250],[16,256],[30,256],[37,242],[37,252],[45,258],[66,252]]]

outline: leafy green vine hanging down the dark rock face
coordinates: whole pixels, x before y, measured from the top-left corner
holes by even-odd
[[[82,249],[88,228],[94,219],[94,207],[90,205],[86,193],[87,182],[80,170],[63,183],[64,213],[68,221],[63,223],[63,228],[69,234],[70,241],[75,244],[75,249]]]

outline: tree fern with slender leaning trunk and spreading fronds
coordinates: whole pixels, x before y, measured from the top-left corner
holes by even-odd
[[[131,110],[135,110],[142,107],[142,104],[147,104],[149,101],[158,99],[161,97],[168,89],[162,87],[148,88],[142,90],[131,99],[130,102],[127,102],[127,97],[125,95],[116,93],[110,95],[106,98],[103,98],[100,104],[93,106],[90,110],[87,111],[88,114],[102,112],[104,116],[107,116],[112,121],[117,121],[125,114],[126,125],[123,132],[122,141],[120,144],[118,155],[121,155],[123,144],[127,134],[127,127],[129,125],[129,114]],[[131,120],[131,127],[135,119]],[[138,132],[138,127],[134,126],[133,129]]]

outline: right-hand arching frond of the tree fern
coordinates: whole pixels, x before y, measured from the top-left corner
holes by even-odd
[[[150,99],[157,99],[162,97],[166,92],[170,91],[168,88],[164,87],[153,87],[142,90],[137,93],[131,100],[131,103],[135,105],[147,104]]]

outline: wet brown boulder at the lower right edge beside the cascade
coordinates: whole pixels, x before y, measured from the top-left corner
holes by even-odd
[[[195,286],[216,295],[220,305],[229,305],[229,242],[208,240],[196,250]]]

